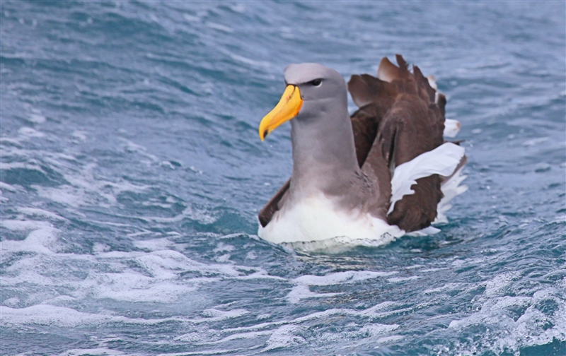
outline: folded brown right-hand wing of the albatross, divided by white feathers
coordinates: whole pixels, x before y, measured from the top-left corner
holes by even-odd
[[[418,67],[414,66],[410,73],[403,57],[398,55],[397,61],[399,75],[391,83],[399,94],[383,117],[376,137],[391,172],[395,166],[434,150],[444,142],[444,95],[437,95]],[[404,196],[387,217],[390,225],[398,225],[408,232],[429,226],[437,217],[437,206],[442,198],[437,174],[417,179],[412,189],[415,194]]]

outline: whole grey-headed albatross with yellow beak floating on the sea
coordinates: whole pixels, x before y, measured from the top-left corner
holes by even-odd
[[[291,123],[291,178],[260,210],[258,236],[277,244],[379,245],[428,235],[446,222],[459,185],[464,149],[444,139],[460,128],[445,119],[446,97],[434,77],[412,73],[396,55],[377,77],[346,84],[320,64],[290,64],[279,103],[260,122],[265,137]],[[350,116],[347,92],[359,109]]]

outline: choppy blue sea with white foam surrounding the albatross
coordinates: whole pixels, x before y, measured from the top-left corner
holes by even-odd
[[[566,355],[558,1],[2,1],[2,355]],[[429,237],[260,240],[292,62],[403,54],[463,127]],[[350,111],[354,105],[350,102]]]

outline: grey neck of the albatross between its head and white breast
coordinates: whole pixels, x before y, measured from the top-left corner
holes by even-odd
[[[291,196],[340,195],[355,184],[359,166],[346,105],[330,104],[316,117],[291,120],[291,141]]]

